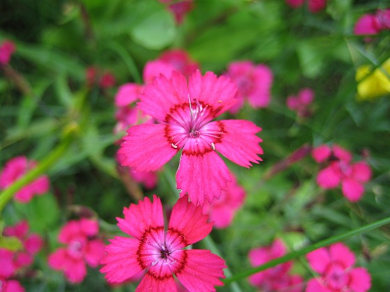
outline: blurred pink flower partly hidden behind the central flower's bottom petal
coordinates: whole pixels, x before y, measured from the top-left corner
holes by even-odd
[[[228,182],[228,189],[222,190],[219,200],[214,204],[205,204],[203,213],[210,214],[210,221],[214,222],[214,227],[225,228],[231,225],[235,211],[240,209],[244,203],[245,190],[239,184],[233,174],[232,181]]]

